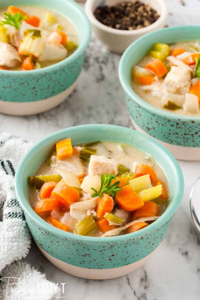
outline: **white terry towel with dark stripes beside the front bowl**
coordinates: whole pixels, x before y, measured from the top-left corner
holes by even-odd
[[[22,138],[0,132],[0,300],[50,300],[60,296],[57,285],[20,261],[29,252],[31,236],[14,193],[14,175],[30,146]]]

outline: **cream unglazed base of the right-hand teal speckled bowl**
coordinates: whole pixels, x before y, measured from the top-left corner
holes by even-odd
[[[143,131],[134,121],[133,119],[132,123],[133,126],[135,127],[136,130],[145,133],[146,135],[148,135],[148,133],[146,133],[145,131]],[[148,135],[150,136],[150,135]],[[153,137],[154,138],[154,137]],[[163,146],[165,146],[173,155],[177,160],[200,160],[200,148],[199,147],[183,147],[183,146],[178,146],[178,145],[172,145],[169,143],[165,143],[162,140],[158,140],[156,138],[154,138],[155,140],[157,140],[158,142],[160,142]]]

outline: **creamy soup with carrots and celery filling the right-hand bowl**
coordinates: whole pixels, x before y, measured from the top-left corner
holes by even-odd
[[[153,45],[132,69],[132,88],[155,107],[200,116],[200,41]]]

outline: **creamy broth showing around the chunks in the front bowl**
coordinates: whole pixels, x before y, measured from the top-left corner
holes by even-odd
[[[79,145],[79,146],[84,147],[84,145]],[[96,150],[95,155],[97,155],[98,157],[99,156],[102,157],[102,155],[103,155],[108,159],[113,159],[113,160],[116,161],[117,165],[121,164],[124,167],[130,169],[130,172],[133,170],[133,163],[135,163],[135,164],[148,164],[149,166],[151,166],[154,169],[154,171],[157,174],[157,178],[162,181],[162,183],[166,187],[167,193],[169,193],[168,179],[166,178],[166,175],[164,174],[164,171],[156,163],[156,161],[153,159],[152,156],[150,156],[146,153],[143,153],[143,152],[141,152],[141,151],[139,151],[139,150],[137,150],[137,149],[135,149],[131,146],[119,145],[119,144],[113,143],[113,142],[98,142],[98,144],[92,145],[92,146],[90,146],[90,148]],[[75,161],[73,161],[73,159],[75,159]],[[55,169],[55,162],[52,159],[50,161],[51,162],[53,161],[53,166],[51,166],[49,164],[49,158],[48,158],[37,169],[34,176],[46,175],[46,174],[55,174],[56,173],[55,172],[55,170],[56,170]],[[88,162],[85,162],[81,159],[79,160],[79,158],[77,157],[77,154],[73,155],[71,157],[68,157],[66,159],[60,160],[60,162],[61,162],[61,164],[63,164],[63,162],[65,164],[67,162],[67,163],[72,164],[73,166],[76,166],[76,167],[78,166],[78,164],[80,164],[79,172],[80,172],[81,176],[88,175]],[[58,161],[57,161],[56,164],[58,165]],[[64,164],[62,165],[62,167],[63,168],[66,167],[69,170],[69,165],[66,166]],[[80,194],[80,197],[82,197],[81,194]],[[31,203],[31,205],[34,209],[37,202],[40,201],[40,194],[38,193],[38,191],[36,189],[30,188],[29,198],[30,198],[30,203]],[[80,199],[80,200],[82,200],[82,199]],[[163,213],[166,205],[167,205],[166,201],[162,202],[162,203],[159,203],[160,214]],[[118,207],[118,205],[116,204],[116,202],[114,200],[113,209],[115,209],[115,208],[119,208],[119,207]],[[65,209],[65,208],[63,208],[61,211],[59,211],[60,216],[58,217],[58,219],[60,220],[60,218],[68,211],[69,210]],[[49,212],[40,214],[40,216],[45,221],[48,221]],[[96,219],[97,217],[94,216],[94,218]],[[75,220],[74,224],[76,225],[79,221],[80,220]],[[130,212],[130,215],[129,215],[129,221],[131,221],[131,212]],[[69,231],[73,232],[73,229],[71,229]],[[125,233],[125,232],[123,232],[123,233]],[[89,235],[89,236],[101,236],[102,234],[99,230],[95,230],[92,233],[89,233],[87,235]]]

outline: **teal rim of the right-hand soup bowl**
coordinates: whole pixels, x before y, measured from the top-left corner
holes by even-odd
[[[191,121],[191,120],[200,121],[200,116],[179,115],[179,114],[175,114],[173,112],[164,111],[164,110],[162,110],[160,108],[157,108],[157,107],[155,107],[155,106],[147,103],[145,100],[143,100],[142,98],[140,98],[135,93],[135,91],[131,88],[130,84],[128,83],[127,80],[125,80],[125,76],[123,75],[124,72],[125,72],[124,61],[126,60],[127,55],[130,52],[132,52],[132,53],[134,52],[135,45],[139,45],[141,43],[141,41],[145,40],[149,36],[152,36],[152,40],[153,40],[153,36],[154,36],[154,34],[157,34],[157,32],[160,32],[161,34],[164,35],[166,31],[176,31],[176,30],[184,31],[186,27],[189,28],[189,29],[191,29],[191,30],[194,30],[194,28],[196,27],[200,31],[200,26],[196,26],[196,25],[166,27],[166,28],[158,29],[158,30],[153,31],[153,32],[149,32],[145,36],[142,36],[139,39],[137,39],[136,41],[134,41],[124,51],[124,53],[123,53],[123,55],[122,55],[122,57],[120,59],[119,67],[118,67],[118,76],[119,76],[119,81],[120,81],[120,83],[121,83],[124,91],[128,94],[128,96],[131,99],[134,98],[135,102],[137,102],[140,106],[142,106],[144,109],[150,111],[151,113],[154,113],[154,114],[156,113],[157,115],[160,115],[162,117],[168,117],[170,119],[175,119],[175,120],[185,119],[186,121]]]

